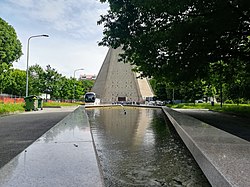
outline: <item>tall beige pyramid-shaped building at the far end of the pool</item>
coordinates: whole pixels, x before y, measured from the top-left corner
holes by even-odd
[[[136,78],[132,65],[118,62],[122,52],[120,47],[109,49],[92,88],[102,104],[143,103],[154,96],[146,78]]]

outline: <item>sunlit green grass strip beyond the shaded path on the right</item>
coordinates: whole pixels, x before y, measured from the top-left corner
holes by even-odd
[[[183,109],[209,109],[217,112],[234,113],[242,116],[250,116],[250,104],[223,104],[222,108],[220,104],[212,106],[210,103],[180,103],[174,105],[168,105],[170,108],[183,108]]]

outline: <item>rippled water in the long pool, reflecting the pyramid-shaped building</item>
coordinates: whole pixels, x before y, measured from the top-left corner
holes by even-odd
[[[87,109],[105,186],[210,186],[160,109]]]

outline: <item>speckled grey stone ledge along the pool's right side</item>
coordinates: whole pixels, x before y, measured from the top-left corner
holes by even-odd
[[[212,186],[250,186],[248,141],[167,107],[162,108]]]

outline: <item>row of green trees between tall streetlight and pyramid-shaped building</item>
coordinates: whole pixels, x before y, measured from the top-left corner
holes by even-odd
[[[52,99],[82,100],[94,84],[93,80],[66,78],[55,68],[47,65],[45,70],[38,64],[29,67],[29,87],[31,95],[50,94]]]

